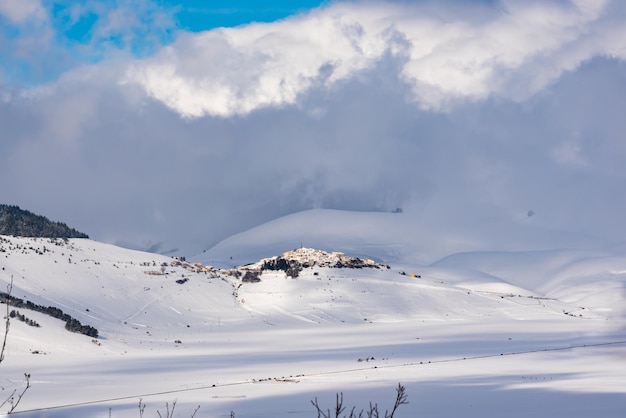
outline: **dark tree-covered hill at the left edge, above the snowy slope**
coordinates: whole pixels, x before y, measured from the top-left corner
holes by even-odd
[[[87,234],[35,215],[18,206],[0,204],[0,235],[37,238],[89,238]]]

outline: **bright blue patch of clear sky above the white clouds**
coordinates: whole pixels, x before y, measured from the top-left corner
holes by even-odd
[[[7,9],[27,10],[16,0]],[[23,4],[27,4],[26,0]],[[34,2],[30,2],[33,3]],[[200,32],[217,27],[234,27],[253,22],[272,22],[303,13],[327,3],[299,1],[227,0],[51,0],[39,4],[41,13],[11,19],[0,13],[0,69],[5,82],[35,85],[51,81],[81,63],[94,63],[112,53],[126,51],[136,57],[153,54],[171,43],[181,31]],[[31,10],[32,12],[32,10]],[[27,13],[27,11],[23,12]],[[14,15],[20,14],[16,11]],[[126,19],[123,24],[113,19]],[[56,59],[39,52],[12,48],[13,42],[46,39],[46,49]],[[34,42],[37,43],[37,42]],[[19,49],[19,48],[18,48]]]

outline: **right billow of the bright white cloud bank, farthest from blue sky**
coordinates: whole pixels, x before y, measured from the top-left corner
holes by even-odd
[[[436,44],[429,50],[411,49],[402,75],[413,86],[415,100],[426,108],[441,108],[459,98],[527,98],[570,69],[562,51],[580,41],[598,18],[603,2],[594,4],[578,8],[508,2],[486,24],[442,23],[426,34],[406,24],[403,29],[412,44],[421,37]],[[598,52],[577,57],[576,64]]]

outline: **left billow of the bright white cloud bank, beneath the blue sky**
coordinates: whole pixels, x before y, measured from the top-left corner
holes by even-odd
[[[186,117],[245,114],[293,104],[325,73],[330,85],[371,66],[384,37],[341,11],[187,34],[136,63],[127,81]]]

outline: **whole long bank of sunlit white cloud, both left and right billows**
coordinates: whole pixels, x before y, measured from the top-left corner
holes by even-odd
[[[390,76],[408,84],[420,107],[523,100],[585,60],[624,53],[623,25],[603,26],[607,5],[509,1],[463,19],[443,8],[336,3],[280,22],[185,34],[136,62],[125,81],[184,117],[228,117],[294,104],[312,86],[332,87],[390,55],[403,63]]]

